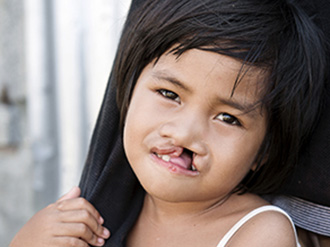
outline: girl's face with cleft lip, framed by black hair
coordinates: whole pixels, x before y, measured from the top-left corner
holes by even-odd
[[[142,71],[124,126],[124,148],[149,195],[170,202],[217,201],[255,168],[266,113],[252,108],[262,73],[197,49],[162,55]]]

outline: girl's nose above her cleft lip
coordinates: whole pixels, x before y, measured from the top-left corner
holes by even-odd
[[[171,139],[176,146],[187,148],[199,155],[205,155],[206,125],[207,123],[197,115],[181,115],[165,121],[159,128],[159,134]]]

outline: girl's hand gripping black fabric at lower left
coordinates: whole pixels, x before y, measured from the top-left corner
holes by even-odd
[[[16,234],[10,247],[103,246],[110,232],[98,211],[74,187],[35,214]]]

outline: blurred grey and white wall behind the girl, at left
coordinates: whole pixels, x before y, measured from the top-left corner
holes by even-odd
[[[0,0],[0,246],[77,185],[129,0]]]

